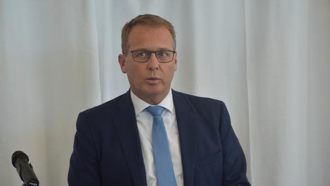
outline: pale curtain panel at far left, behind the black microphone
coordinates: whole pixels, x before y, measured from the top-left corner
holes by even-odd
[[[101,103],[92,2],[0,3],[0,180],[24,151],[42,185],[67,185],[75,122]]]

